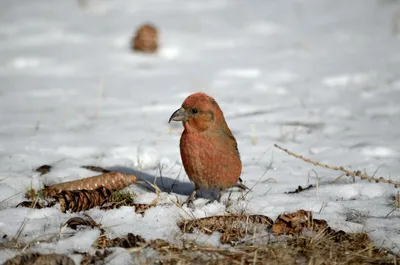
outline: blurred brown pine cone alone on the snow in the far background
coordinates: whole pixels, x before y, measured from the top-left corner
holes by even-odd
[[[134,51],[154,53],[158,48],[157,29],[153,25],[143,24],[132,39],[132,49]]]

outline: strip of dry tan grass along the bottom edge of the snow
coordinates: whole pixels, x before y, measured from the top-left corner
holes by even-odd
[[[134,238],[128,235],[126,238]],[[122,242],[129,242],[122,239]],[[112,240],[112,242],[120,242]],[[135,241],[136,242],[136,241]],[[125,247],[124,244],[116,244]],[[177,247],[164,240],[141,241],[129,251],[144,264],[398,264],[395,256],[373,246],[366,233],[280,237],[273,243],[243,244],[231,248],[186,242]],[[157,257],[145,258],[149,249]]]

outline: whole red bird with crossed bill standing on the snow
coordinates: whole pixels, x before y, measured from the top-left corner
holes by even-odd
[[[172,114],[171,121],[183,122],[181,158],[195,185],[186,203],[189,205],[201,188],[218,189],[219,201],[222,190],[241,181],[242,162],[236,139],[217,102],[204,93],[192,94]]]

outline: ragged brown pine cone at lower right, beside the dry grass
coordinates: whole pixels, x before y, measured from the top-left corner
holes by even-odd
[[[313,219],[310,211],[298,210],[295,213],[281,214],[272,225],[275,234],[301,234],[304,229],[320,232],[329,230],[325,220]]]

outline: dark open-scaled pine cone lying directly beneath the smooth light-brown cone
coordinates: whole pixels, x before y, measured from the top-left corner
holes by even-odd
[[[60,203],[62,212],[80,212],[106,203],[111,198],[111,191],[105,187],[96,190],[63,190],[53,198]]]

